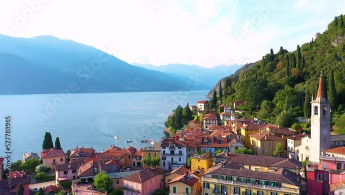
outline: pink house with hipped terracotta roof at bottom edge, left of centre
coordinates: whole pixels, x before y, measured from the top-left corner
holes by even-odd
[[[124,195],[149,195],[164,189],[164,169],[147,168],[124,178]]]

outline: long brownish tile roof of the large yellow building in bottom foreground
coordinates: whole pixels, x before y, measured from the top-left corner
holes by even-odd
[[[262,172],[251,171],[244,169],[233,169],[229,160],[220,163],[219,165],[212,167],[205,171],[203,176],[207,174],[221,174],[226,176],[237,176],[242,178],[253,178],[262,180],[272,180],[276,182],[288,183],[291,185],[297,185],[301,187],[301,178],[297,176],[293,171],[288,169],[277,169],[277,171]],[[230,166],[230,167],[229,167]]]

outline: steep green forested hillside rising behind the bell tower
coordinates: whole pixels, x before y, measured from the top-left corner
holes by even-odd
[[[317,93],[320,73],[331,101],[335,130],[345,133],[345,26],[343,15],[327,30],[297,45],[290,52],[280,47],[239,74],[222,79],[223,102],[246,101],[242,110],[262,120],[290,126],[295,117],[310,117],[311,98]],[[217,92],[219,93],[219,92]],[[210,96],[210,95],[209,95]],[[342,127],[344,125],[344,127]]]

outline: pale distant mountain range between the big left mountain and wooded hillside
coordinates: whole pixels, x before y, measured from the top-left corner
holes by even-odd
[[[190,80],[195,81],[197,84],[205,84],[208,89],[211,89],[222,77],[234,73],[237,69],[241,68],[242,65],[221,65],[215,66],[214,68],[204,68],[197,65],[187,64],[167,64],[161,66],[154,66],[152,64],[139,64],[133,62],[132,65],[147,68],[150,70],[161,71],[163,73],[170,73],[174,75],[180,75],[188,77]]]

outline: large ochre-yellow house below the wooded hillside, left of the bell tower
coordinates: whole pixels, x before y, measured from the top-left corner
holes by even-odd
[[[280,143],[283,148],[282,155],[286,155],[286,138],[282,137],[275,136],[274,133],[270,133],[269,131],[260,131],[249,136],[251,149],[253,149],[256,155],[274,156],[273,151],[275,151],[275,146]]]

